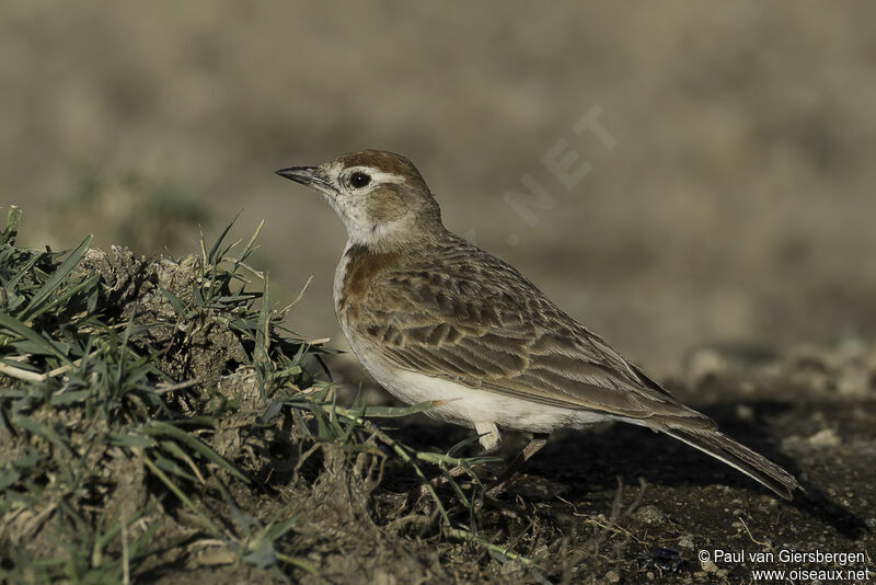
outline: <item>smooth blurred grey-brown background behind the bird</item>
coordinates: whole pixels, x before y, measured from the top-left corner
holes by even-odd
[[[3,2],[0,87],[23,243],[182,255],[264,218],[253,264],[278,303],[313,275],[289,323],[336,347],[343,227],[273,171],[361,148],[657,376],[876,336],[873,2]]]

